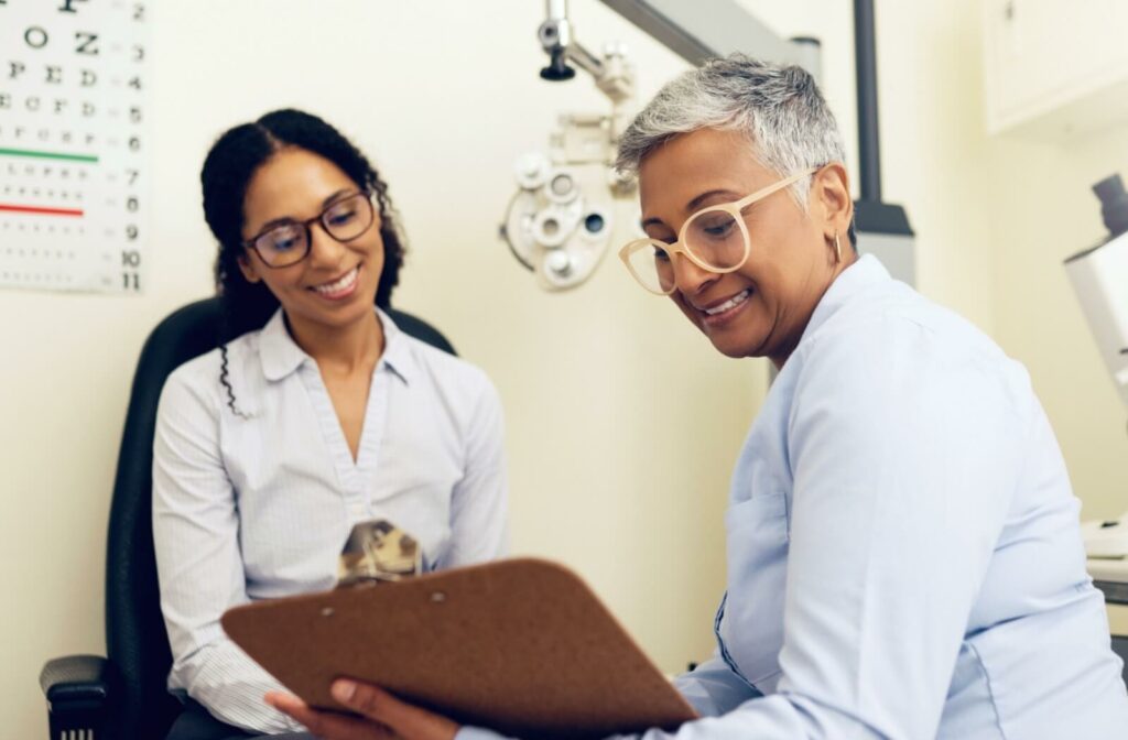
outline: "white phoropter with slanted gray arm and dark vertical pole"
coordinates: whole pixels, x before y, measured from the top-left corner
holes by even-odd
[[[777,63],[799,64],[820,79],[819,42],[779,38],[737,0],[601,0],[691,64],[746,52]],[[520,187],[510,202],[501,236],[547,290],[574,288],[599,265],[615,231],[616,201],[634,194],[614,170],[615,149],[634,91],[634,70],[622,46],[596,56],[581,46],[567,0],[546,0],[537,36],[548,54],[540,77],[550,81],[590,73],[611,100],[608,115],[563,115],[548,155],[531,152],[515,167]],[[913,229],[900,205],[881,200],[878,136],[876,52],[873,0],[855,0],[855,61],[858,89],[861,197],[855,203],[858,252],[874,254],[889,272],[916,283]],[[620,235],[622,236],[622,235]]]

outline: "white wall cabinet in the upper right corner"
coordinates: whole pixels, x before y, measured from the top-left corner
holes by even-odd
[[[1128,0],[984,0],[987,131],[1068,141],[1128,123]]]

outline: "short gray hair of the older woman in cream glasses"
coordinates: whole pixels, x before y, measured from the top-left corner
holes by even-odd
[[[743,54],[715,59],[668,82],[619,140],[615,168],[636,176],[642,160],[678,134],[740,131],[757,160],[782,177],[846,160],[841,133],[814,78]],[[792,186],[807,206],[809,178]]]

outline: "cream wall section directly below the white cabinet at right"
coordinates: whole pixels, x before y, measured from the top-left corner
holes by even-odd
[[[1090,188],[1116,171],[1128,175],[1128,125],[1068,144],[1001,140],[987,164],[995,336],[1030,370],[1082,518],[1119,517],[1128,511],[1128,411],[1061,262],[1105,236]],[[1113,632],[1128,634],[1128,607],[1110,607],[1109,615]]]

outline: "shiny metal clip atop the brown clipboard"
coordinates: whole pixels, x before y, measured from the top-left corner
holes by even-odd
[[[386,519],[356,523],[337,561],[337,587],[376,585],[423,573],[418,540]]]

